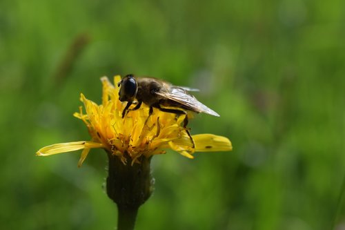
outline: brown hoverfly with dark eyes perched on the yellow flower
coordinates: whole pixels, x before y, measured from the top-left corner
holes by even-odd
[[[160,111],[166,113],[175,113],[177,115],[186,114],[187,111],[195,113],[207,113],[219,117],[219,114],[199,102],[188,91],[197,91],[194,88],[184,86],[173,86],[169,82],[164,82],[153,77],[135,77],[132,74],[126,75],[121,82],[117,84],[121,86],[119,90],[119,100],[127,102],[124,111],[122,111],[122,118],[128,113],[130,105],[137,100],[134,108],[135,111],[144,103],[150,107],[148,116],[153,113],[153,108],[158,108]],[[168,108],[166,108],[168,107]],[[184,128],[188,124],[188,116],[184,119]],[[193,142],[188,129],[186,128],[190,140]],[[194,142],[193,142],[194,147]]]

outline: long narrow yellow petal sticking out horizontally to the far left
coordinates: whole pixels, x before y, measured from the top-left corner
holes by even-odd
[[[52,144],[46,147],[41,148],[37,151],[36,155],[46,156],[54,155],[58,153],[67,153],[72,151],[77,151],[84,148],[103,148],[103,144],[97,142],[68,142],[68,143],[59,143]]]

